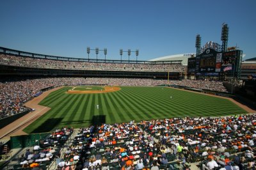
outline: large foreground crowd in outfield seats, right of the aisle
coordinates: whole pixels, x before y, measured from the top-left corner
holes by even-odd
[[[256,115],[80,128],[58,169],[255,169]]]

